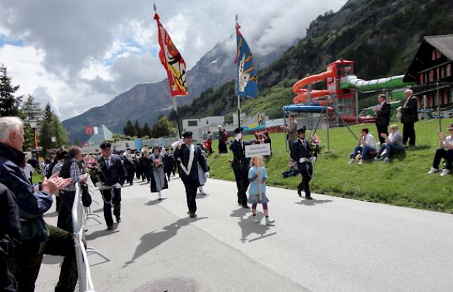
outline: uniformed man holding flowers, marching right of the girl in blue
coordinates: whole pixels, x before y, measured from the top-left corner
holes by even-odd
[[[311,200],[309,181],[312,179],[313,162],[316,161],[316,154],[310,152],[309,141],[305,139],[305,128],[298,130],[298,139],[292,142],[291,158],[298,162],[298,171],[302,175],[302,182],[298,185],[298,194],[302,197],[302,190],[305,192],[305,199]]]

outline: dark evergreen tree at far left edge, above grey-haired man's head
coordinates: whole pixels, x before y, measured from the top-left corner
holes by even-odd
[[[15,97],[19,85],[11,85],[11,77],[8,77],[6,67],[0,66],[0,116],[19,116],[19,106],[22,96]]]

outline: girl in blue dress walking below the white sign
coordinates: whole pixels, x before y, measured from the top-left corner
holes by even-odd
[[[266,216],[266,224],[272,224],[275,220],[269,218],[269,199],[266,197],[266,178],[268,178],[268,174],[266,173],[266,168],[263,167],[263,157],[252,157],[250,164],[249,199],[247,200],[247,203],[252,204],[252,221],[255,223],[259,222],[259,219],[256,217],[256,206],[261,203],[263,204],[263,212]]]

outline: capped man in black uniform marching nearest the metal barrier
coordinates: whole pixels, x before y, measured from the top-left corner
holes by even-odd
[[[98,159],[98,183],[96,186],[104,198],[104,217],[107,230],[113,229],[112,203],[116,222],[121,222],[121,187],[125,181],[125,169],[121,158],[112,155],[109,143],[102,143],[102,157]]]

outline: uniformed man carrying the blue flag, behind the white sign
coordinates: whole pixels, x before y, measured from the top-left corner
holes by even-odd
[[[247,187],[249,187],[250,158],[245,157],[245,146],[249,145],[249,143],[243,141],[242,127],[236,128],[234,134],[236,134],[236,139],[231,141],[230,150],[234,155],[231,167],[233,168],[236,186],[238,187],[238,204],[243,206],[243,208],[249,208],[246,192]]]

